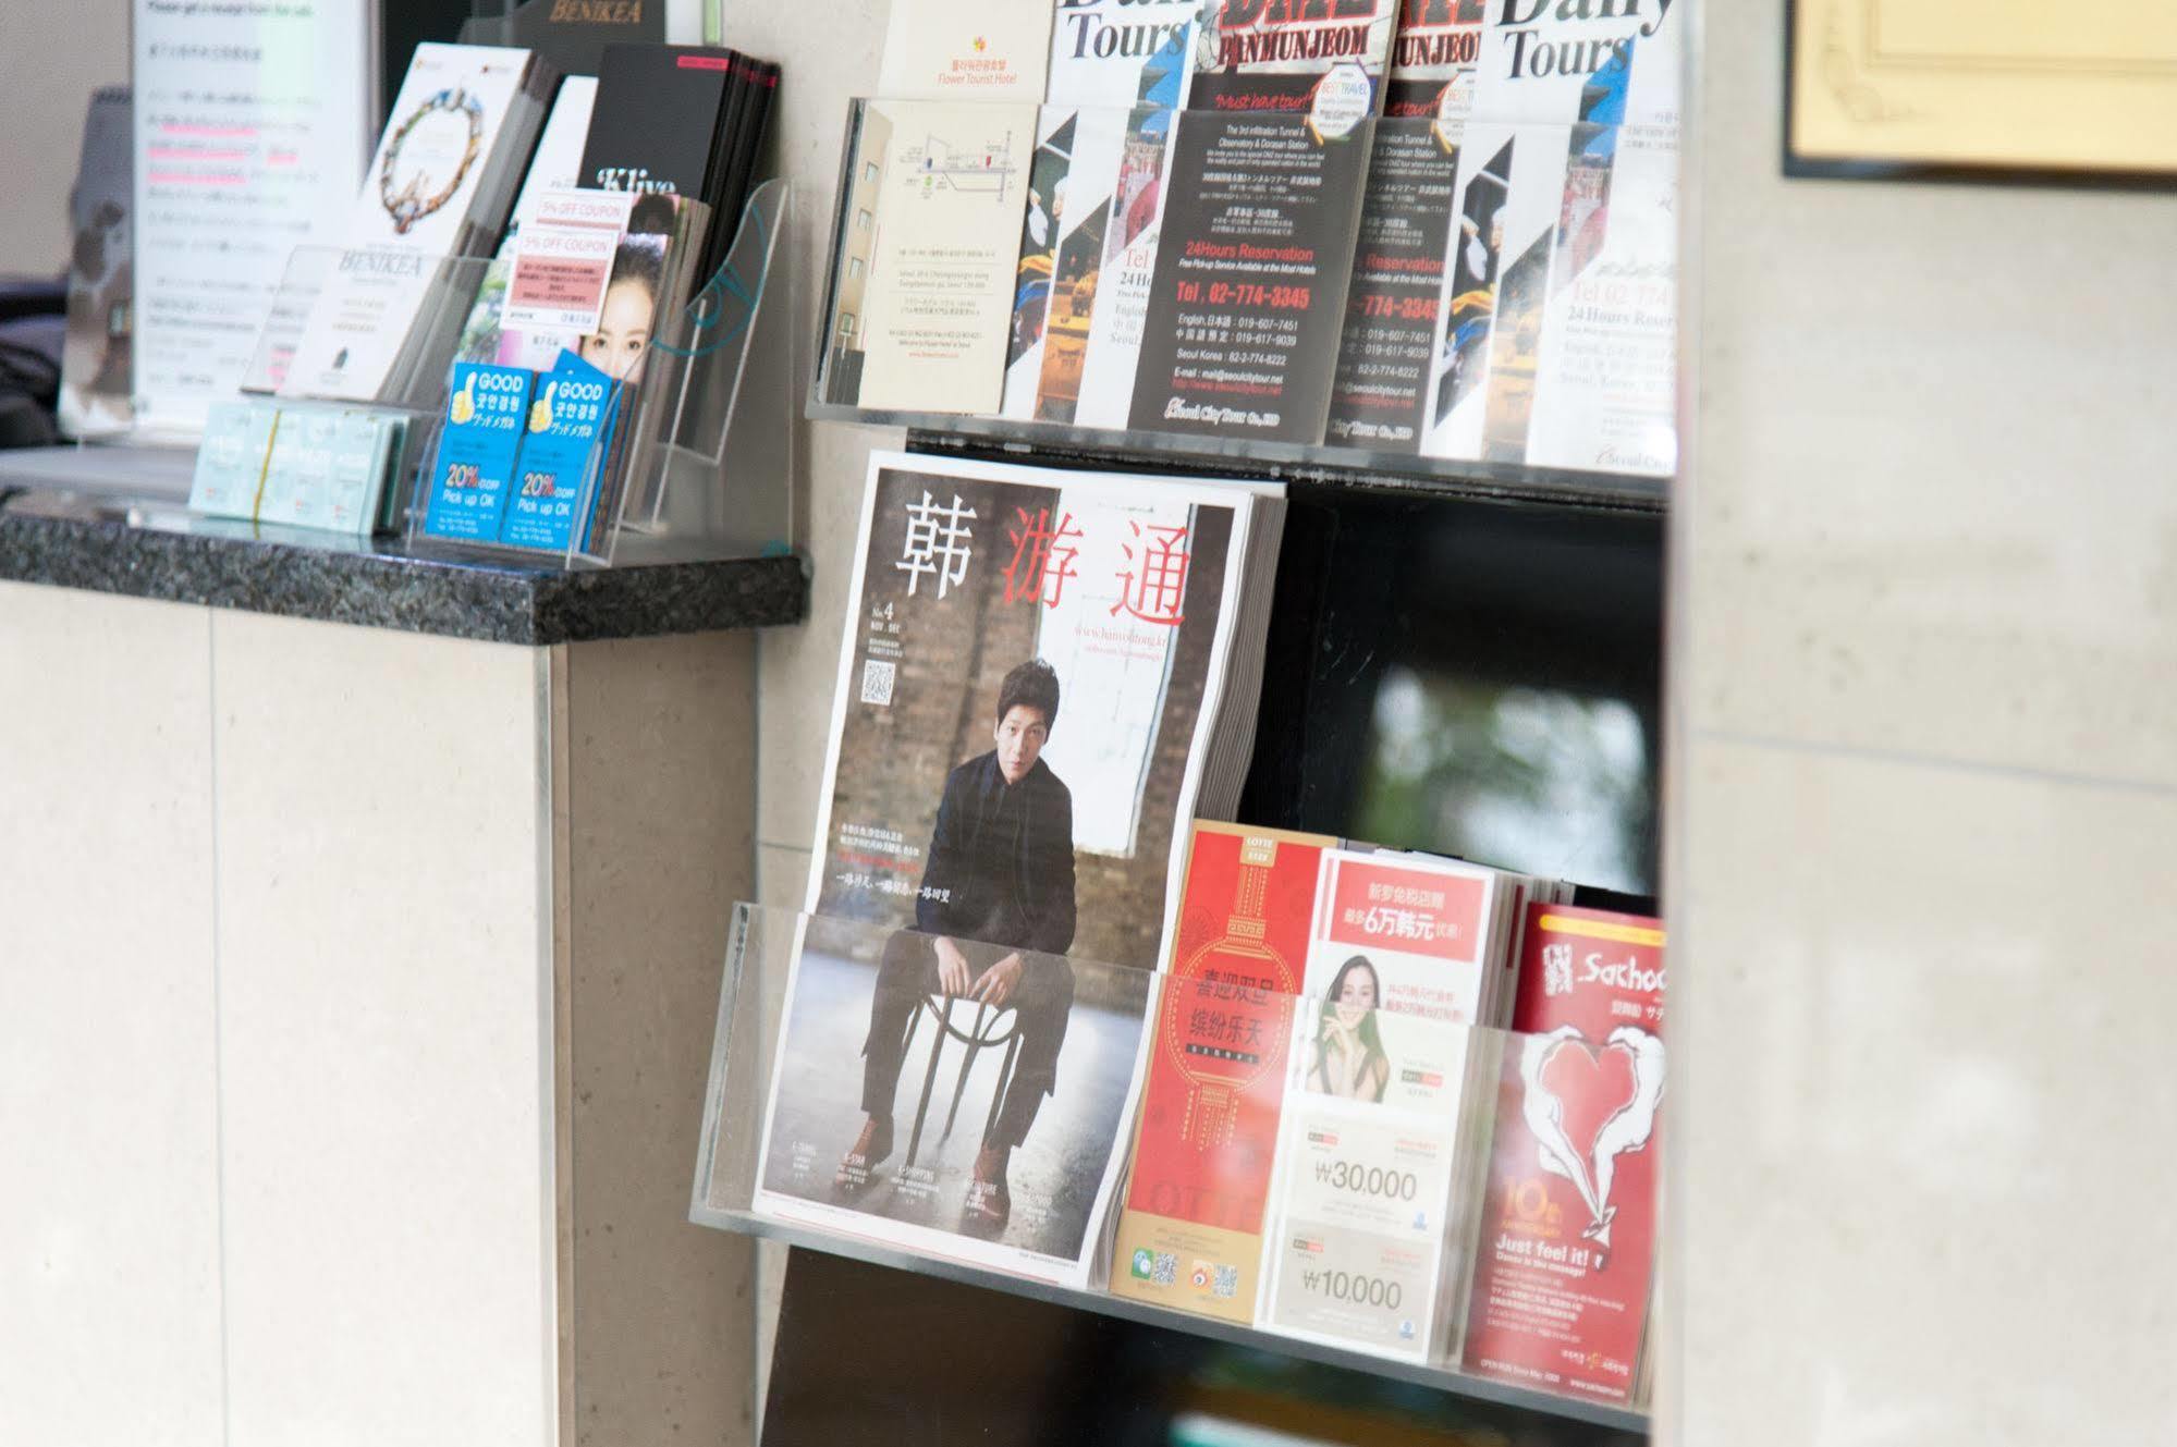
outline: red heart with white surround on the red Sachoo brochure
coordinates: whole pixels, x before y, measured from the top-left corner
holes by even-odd
[[[1576,1025],[1561,1025],[1526,1042],[1520,1084],[1541,1168],[1572,1182],[1587,1205],[1581,1236],[1609,1251],[1618,1158],[1648,1145],[1663,1103],[1663,1042],[1620,1025],[1596,1049]]]

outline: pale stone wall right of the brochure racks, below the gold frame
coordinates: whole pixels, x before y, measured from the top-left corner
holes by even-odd
[[[1659,1436],[2177,1440],[2177,198],[1785,181],[1781,9],[1700,13]]]

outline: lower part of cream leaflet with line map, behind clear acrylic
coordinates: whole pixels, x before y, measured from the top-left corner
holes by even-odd
[[[832,403],[999,409],[1034,152],[1030,104],[862,107],[825,357]]]

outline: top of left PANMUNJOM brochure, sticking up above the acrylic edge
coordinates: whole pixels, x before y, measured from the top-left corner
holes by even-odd
[[[1195,22],[1186,104],[1304,113],[1317,135],[1350,135],[1382,109],[1395,0],[1213,0]]]

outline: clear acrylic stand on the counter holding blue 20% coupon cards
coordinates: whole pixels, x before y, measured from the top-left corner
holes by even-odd
[[[792,535],[790,268],[779,235],[790,185],[766,181],[751,196],[723,265],[642,355],[636,392],[614,426],[610,455],[594,448],[575,494],[566,548],[538,553],[431,533],[431,459],[444,429],[448,379],[440,374],[427,446],[414,470],[405,527],[431,553],[559,557],[568,568],[699,561],[784,553]],[[777,294],[777,296],[773,296]],[[766,307],[768,300],[768,307]],[[755,348],[775,366],[751,366]],[[614,392],[614,405],[623,398]],[[516,481],[520,485],[520,481]]]

